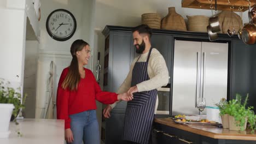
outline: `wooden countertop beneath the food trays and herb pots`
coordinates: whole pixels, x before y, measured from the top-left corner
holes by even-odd
[[[155,118],[155,122],[167,125],[168,127],[189,131],[197,135],[211,137],[213,139],[249,140],[249,141],[255,141],[256,143],[256,134],[251,134],[250,130],[231,131],[229,129],[223,129],[223,128],[217,128],[217,127],[189,127],[184,124],[176,124],[170,118]]]

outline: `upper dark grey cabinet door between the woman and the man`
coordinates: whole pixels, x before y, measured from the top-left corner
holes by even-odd
[[[109,32],[108,47],[104,56],[104,91],[117,92],[130,70],[130,64],[134,58],[132,49],[131,32]],[[107,61],[107,62],[106,62]],[[107,78],[105,78],[107,77]],[[115,109],[126,109],[126,103],[122,101]]]

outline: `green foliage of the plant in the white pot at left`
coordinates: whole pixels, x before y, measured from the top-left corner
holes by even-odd
[[[25,108],[25,99],[26,99],[26,94],[24,97],[21,99],[21,93],[20,93],[20,88],[14,89],[12,87],[8,87],[10,85],[10,82],[5,82],[4,79],[0,78],[0,104],[13,104],[14,109],[13,109],[13,117],[17,117],[20,109]],[[22,103],[21,103],[22,100]],[[19,123],[14,119],[14,122],[16,125]],[[20,130],[17,130],[18,136],[22,136],[20,133]]]

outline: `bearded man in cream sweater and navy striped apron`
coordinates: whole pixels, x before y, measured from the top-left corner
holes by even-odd
[[[126,143],[148,144],[156,110],[156,88],[167,85],[168,69],[164,57],[151,46],[152,31],[147,25],[133,28],[132,35],[133,45],[140,55],[133,60],[129,74],[117,92],[133,95],[125,111],[123,139]],[[104,109],[104,117],[110,117],[116,104]]]

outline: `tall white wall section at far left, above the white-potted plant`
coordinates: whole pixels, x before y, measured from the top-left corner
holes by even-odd
[[[0,17],[4,21],[0,27],[0,77],[20,86],[24,73],[26,13],[22,9],[0,9]]]

